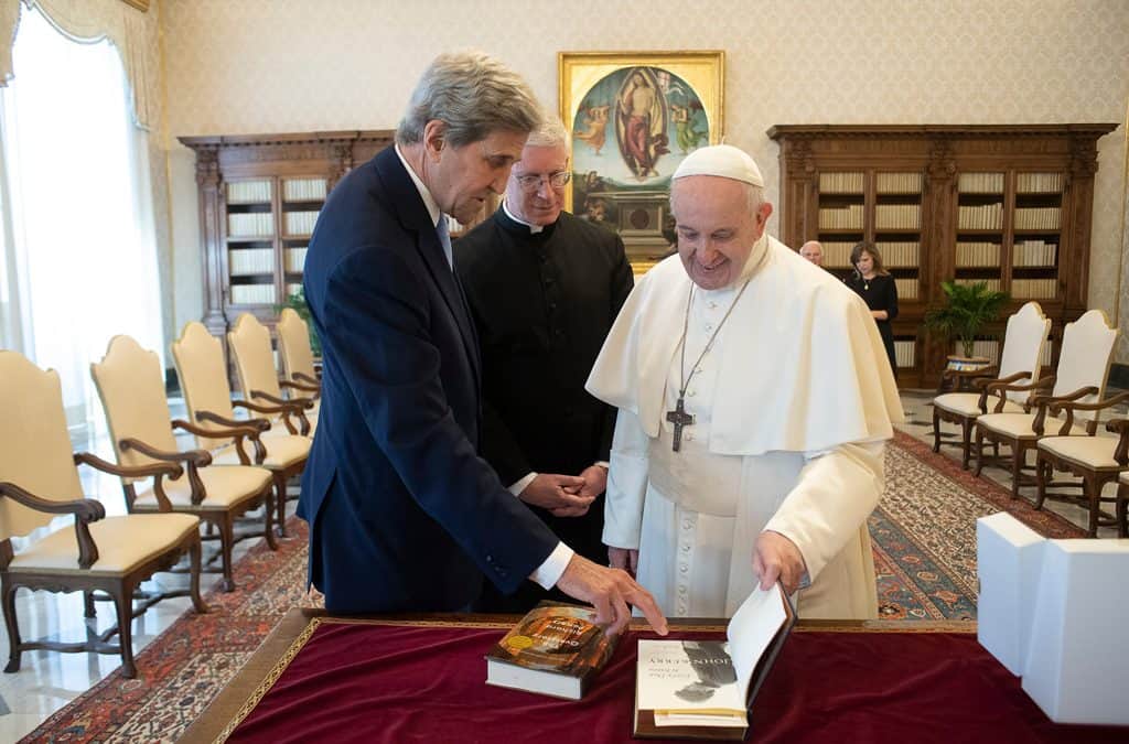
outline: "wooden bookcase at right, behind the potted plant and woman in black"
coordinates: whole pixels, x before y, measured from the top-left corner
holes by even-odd
[[[1115,128],[778,124],[780,237],[820,240],[841,277],[851,246],[877,246],[898,283],[902,386],[935,385],[952,351],[921,327],[946,279],[1010,292],[1005,315],[1038,300],[1052,320],[1050,366],[1062,326],[1087,309],[1097,140]]]

